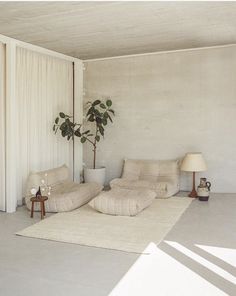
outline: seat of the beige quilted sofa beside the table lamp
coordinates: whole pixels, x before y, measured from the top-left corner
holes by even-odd
[[[149,180],[129,180],[125,178],[116,178],[110,182],[111,188],[125,188],[125,189],[150,189],[156,192],[157,198],[168,198],[178,192],[176,182],[163,178],[162,181]]]

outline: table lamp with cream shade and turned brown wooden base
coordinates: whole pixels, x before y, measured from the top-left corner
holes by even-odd
[[[189,193],[189,197],[197,197],[197,191],[195,189],[195,173],[203,172],[206,170],[207,170],[207,166],[202,153],[194,152],[194,153],[187,153],[185,155],[181,165],[181,171],[193,173],[193,187],[192,187],[192,191]]]

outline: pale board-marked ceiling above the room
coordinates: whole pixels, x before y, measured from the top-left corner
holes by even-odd
[[[236,43],[236,2],[0,2],[0,34],[81,59]]]

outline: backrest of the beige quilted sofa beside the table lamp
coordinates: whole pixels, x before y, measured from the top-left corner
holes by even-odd
[[[179,176],[179,160],[126,159],[122,178],[128,180],[158,181]]]

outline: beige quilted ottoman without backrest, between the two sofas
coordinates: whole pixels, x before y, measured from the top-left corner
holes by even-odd
[[[135,216],[150,206],[155,197],[156,193],[149,189],[114,188],[101,192],[89,202],[89,205],[104,214]]]

